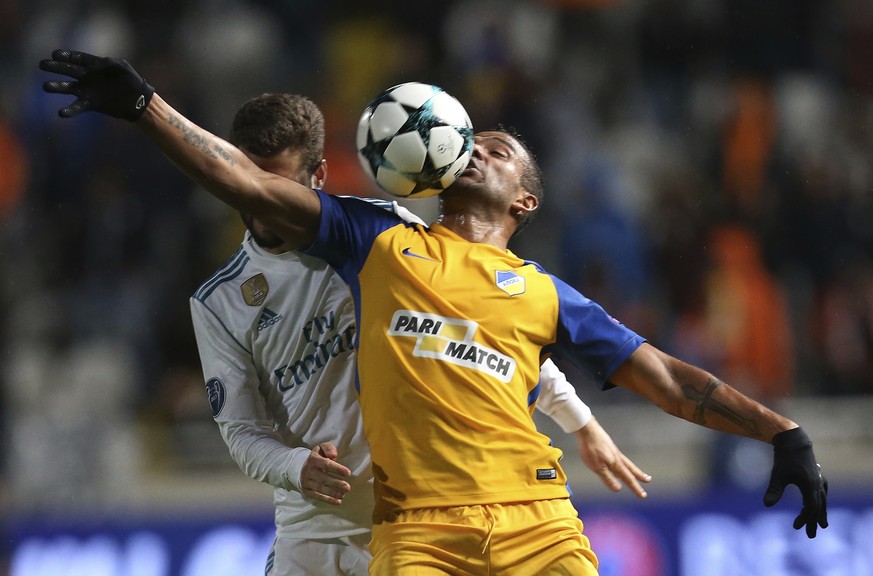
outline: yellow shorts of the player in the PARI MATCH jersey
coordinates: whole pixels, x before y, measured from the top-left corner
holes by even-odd
[[[596,576],[569,499],[422,508],[373,526],[376,576]]]

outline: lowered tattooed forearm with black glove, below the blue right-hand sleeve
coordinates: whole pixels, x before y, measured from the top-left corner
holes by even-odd
[[[797,423],[650,344],[642,344],[631,354],[610,381],[689,422],[771,443],[773,469],[764,504],[773,506],[785,487],[794,484],[803,497],[794,528],[806,526],[807,536],[814,538],[817,526],[827,527],[828,484],[812,442]]]

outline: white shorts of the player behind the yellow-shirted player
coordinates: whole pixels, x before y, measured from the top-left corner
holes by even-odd
[[[370,534],[304,540],[276,538],[264,576],[367,576]]]

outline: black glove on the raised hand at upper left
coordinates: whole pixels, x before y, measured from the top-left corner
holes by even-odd
[[[76,96],[72,104],[58,110],[61,118],[90,110],[136,122],[155,93],[130,64],[116,58],[55,50],[51,60],[40,61],[39,68],[74,78],[43,84],[46,92]]]

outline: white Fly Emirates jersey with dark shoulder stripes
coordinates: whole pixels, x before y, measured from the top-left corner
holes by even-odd
[[[396,202],[388,209],[414,219]],[[336,538],[368,532],[374,506],[369,446],[355,391],[354,304],[322,260],[263,251],[246,233],[236,254],[190,300],[213,417],[231,457],[274,487],[276,532]],[[538,408],[567,432],[590,417],[551,362]],[[332,442],[352,471],[340,506],[304,497],[312,447]]]

